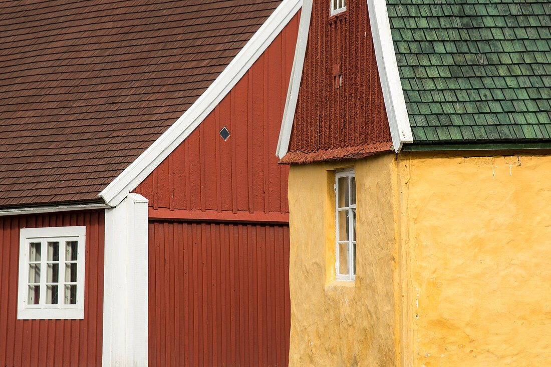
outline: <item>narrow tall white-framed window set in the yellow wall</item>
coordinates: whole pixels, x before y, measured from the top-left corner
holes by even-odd
[[[356,278],[356,177],[354,169],[335,173],[337,280]]]

